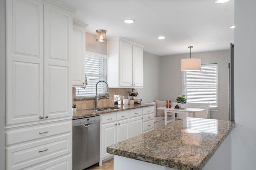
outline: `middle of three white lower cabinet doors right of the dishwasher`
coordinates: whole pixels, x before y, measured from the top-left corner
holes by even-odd
[[[117,122],[117,143],[129,139],[129,119]]]

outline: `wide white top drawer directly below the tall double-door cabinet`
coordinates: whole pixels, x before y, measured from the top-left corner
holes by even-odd
[[[43,137],[49,137],[60,133],[70,132],[71,129],[72,120],[7,130],[6,146],[34,139],[40,139]]]

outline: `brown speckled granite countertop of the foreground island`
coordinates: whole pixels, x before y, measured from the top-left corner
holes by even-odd
[[[235,127],[234,121],[187,117],[142,135],[116,143],[107,152],[179,170],[201,170]],[[183,129],[201,131],[200,142],[191,145]]]

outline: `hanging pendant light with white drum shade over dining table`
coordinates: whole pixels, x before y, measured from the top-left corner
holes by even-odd
[[[190,48],[190,59],[180,60],[180,71],[200,71],[201,70],[201,59],[191,59],[191,48]]]

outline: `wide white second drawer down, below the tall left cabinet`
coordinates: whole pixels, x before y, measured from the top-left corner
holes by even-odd
[[[6,168],[18,170],[71,152],[71,133],[6,148]]]

